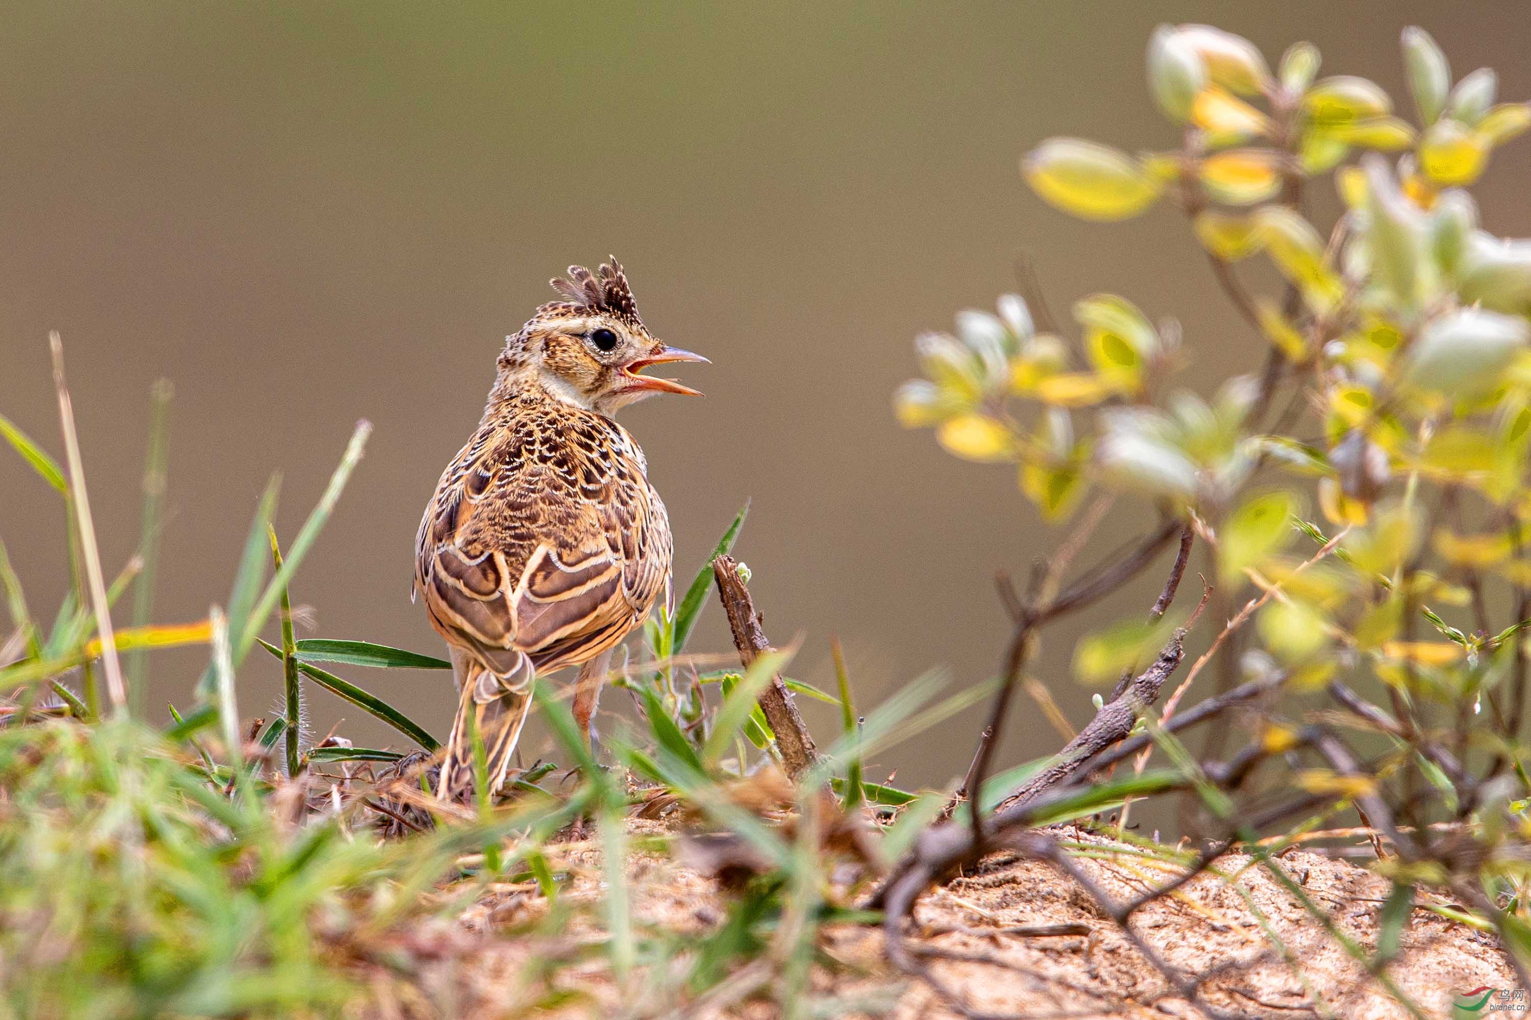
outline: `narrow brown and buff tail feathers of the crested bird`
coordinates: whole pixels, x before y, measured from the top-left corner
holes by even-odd
[[[455,798],[473,786],[475,737],[484,743],[485,781],[490,792],[499,791],[516,754],[521,728],[531,711],[531,670],[502,677],[478,664],[467,670],[458,694],[458,714],[452,720],[436,797]]]

